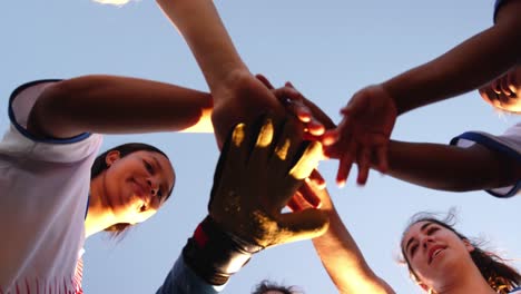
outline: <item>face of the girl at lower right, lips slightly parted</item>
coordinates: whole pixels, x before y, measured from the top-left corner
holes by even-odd
[[[472,262],[474,247],[454,232],[432,222],[419,222],[405,232],[402,239],[404,257],[420,280],[422,287],[439,288],[450,284],[462,268]]]

